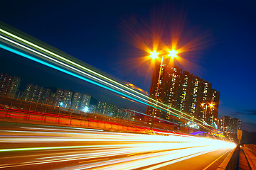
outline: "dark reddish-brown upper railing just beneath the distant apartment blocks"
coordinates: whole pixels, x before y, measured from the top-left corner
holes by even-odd
[[[51,114],[54,117],[63,117],[63,118],[72,118],[77,120],[87,120],[87,121],[102,121],[108,123],[119,123],[121,125],[126,125],[129,127],[144,127],[143,120],[124,120],[120,118],[113,118],[107,115],[103,115],[100,112],[95,113],[85,113],[82,111],[77,111],[70,108],[62,108],[58,106],[51,106],[44,103],[36,103],[32,101],[23,101],[16,98],[6,98],[4,96],[0,96],[0,107],[16,109],[19,111],[30,111],[32,114],[38,113],[40,115],[48,115]],[[9,111],[11,112],[11,111]],[[29,113],[31,114],[31,113]],[[165,130],[176,130],[173,126],[163,125],[163,123],[155,123],[154,128],[161,128]],[[183,132],[181,130],[181,132]],[[185,131],[184,131],[185,132]]]

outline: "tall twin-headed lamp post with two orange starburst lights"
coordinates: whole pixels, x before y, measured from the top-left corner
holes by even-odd
[[[177,57],[177,51],[175,51],[174,49],[173,50],[169,50],[169,54],[168,56],[171,57],[171,59],[174,59],[174,57]],[[150,52],[150,58],[152,58],[152,60],[155,60],[155,59],[158,59],[158,55],[159,55],[159,52],[156,52],[156,50],[154,50],[153,52]],[[159,95],[159,84],[160,84],[160,79],[161,79],[161,70],[162,70],[162,67],[163,67],[163,62],[164,62],[164,55],[161,55],[161,64],[160,64],[160,70],[159,70],[159,78],[158,78],[158,81],[157,81],[157,86],[156,86],[156,105],[157,106],[157,103],[158,103],[158,98],[157,96]],[[156,109],[156,108],[154,108]],[[154,122],[154,111],[152,112],[152,120],[151,120],[151,127],[150,127],[150,130],[152,130],[153,128],[153,122]]]

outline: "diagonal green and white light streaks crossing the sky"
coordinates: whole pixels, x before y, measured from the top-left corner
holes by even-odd
[[[58,55],[58,54],[55,54],[54,52],[51,52],[51,51],[49,51],[49,50],[46,50],[45,48],[43,48],[43,47],[40,47],[40,46],[38,46],[38,45],[36,45],[36,44],[34,44],[34,43],[32,43],[32,42],[29,42],[29,41],[27,41],[27,40],[24,40],[23,38],[20,38],[20,37],[18,37],[18,36],[16,36],[16,35],[14,35],[14,34],[12,34],[12,33],[9,33],[8,31],[6,31],[6,30],[4,30],[4,29],[1,29],[0,28],[0,32],[2,33],[2,35],[4,35],[5,37],[3,37],[3,36],[1,36],[1,38],[2,39],[4,39],[4,40],[8,40],[9,42],[11,42],[11,43],[13,43],[13,44],[16,44],[16,45],[19,45],[20,47],[23,47],[23,48],[26,48],[26,50],[30,50],[31,52],[34,52],[34,53],[36,53],[37,55],[41,55],[41,56],[43,56],[43,57],[45,57],[45,58],[47,58],[48,60],[52,60],[53,62],[55,62],[55,64],[61,64],[61,65],[63,65],[63,66],[65,66],[65,67],[68,67],[68,69],[73,69],[73,71],[75,71],[75,72],[79,72],[80,74],[84,74],[86,77],[90,77],[90,79],[95,79],[96,81],[98,81],[98,82],[100,82],[100,83],[102,83],[102,84],[105,84],[105,85],[107,85],[107,86],[110,86],[110,87],[108,87],[107,89],[112,89],[112,88],[114,88],[114,89],[116,89],[116,90],[118,90],[118,91],[122,91],[122,92],[118,92],[118,94],[122,94],[122,95],[124,95],[124,96],[127,96],[127,95],[129,95],[129,96],[127,96],[127,97],[129,97],[129,98],[132,98],[133,100],[135,100],[135,101],[139,101],[140,103],[144,103],[144,104],[146,104],[146,105],[148,105],[148,106],[151,106],[151,107],[154,107],[154,108],[158,108],[158,109],[160,109],[161,111],[164,111],[164,112],[167,112],[167,113],[169,113],[169,112],[171,112],[171,113],[173,113],[176,117],[181,117],[181,118],[184,118],[184,119],[186,119],[186,120],[188,120],[188,121],[191,121],[191,122],[193,122],[193,123],[196,123],[196,122],[194,122],[194,121],[192,121],[191,119],[189,119],[189,118],[186,118],[186,117],[184,117],[183,115],[186,115],[186,116],[188,116],[188,117],[190,117],[190,118],[193,118],[193,116],[192,115],[189,115],[189,114],[187,114],[187,113],[183,113],[183,112],[181,112],[181,111],[178,111],[177,109],[175,109],[175,108],[171,108],[171,107],[169,107],[169,106],[167,106],[167,105],[165,105],[164,103],[161,103],[161,102],[159,102],[159,101],[156,101],[154,98],[149,98],[149,96],[146,96],[146,95],[144,95],[144,94],[142,94],[142,93],[139,93],[138,91],[135,91],[134,89],[131,89],[131,88],[129,88],[129,87],[127,87],[127,86],[125,86],[124,84],[120,84],[119,82],[117,82],[117,81],[114,81],[114,80],[112,80],[112,79],[110,79],[109,77],[105,77],[104,75],[102,75],[102,74],[99,74],[99,73],[97,73],[97,72],[95,72],[95,71],[93,71],[93,70],[91,70],[91,69],[88,69],[87,67],[84,67],[84,66],[82,66],[81,64],[78,64],[78,63],[76,63],[76,62],[73,62],[73,61],[71,61],[71,60],[68,60],[67,58],[65,58],[65,57],[63,57],[63,56],[60,56],[60,55]],[[7,38],[10,38],[11,37],[11,39],[13,39],[13,40],[16,40],[16,42],[15,41],[12,41],[12,40],[9,40],[9,39],[7,39]],[[21,45],[21,44],[19,44],[18,42],[20,42],[20,43],[23,43],[24,45],[26,45],[26,46],[24,46],[24,45]],[[31,49],[31,48],[28,48],[28,47],[31,47],[31,48],[34,48],[35,50],[33,50],[33,49]],[[38,52],[39,51],[39,52]],[[43,55],[41,52],[46,52],[46,55]],[[50,57],[48,56],[48,55],[50,55]],[[53,58],[51,58],[51,57],[53,57]],[[62,61],[62,62],[60,62],[60,61]],[[63,62],[65,62],[65,63],[63,63]],[[73,66],[73,67],[71,67],[71,66]],[[62,67],[63,67],[62,66]],[[60,69],[58,69],[58,70],[60,70]],[[84,71],[84,72],[82,72],[82,71]],[[63,72],[63,71],[62,71]],[[86,73],[87,72],[87,73]],[[88,74],[88,73],[90,73],[90,74]],[[73,73],[72,73],[73,74]],[[92,75],[93,76],[92,76]],[[74,75],[73,75],[74,76]],[[78,75],[76,75],[75,77],[78,77]],[[78,78],[80,78],[80,76],[78,77]],[[105,81],[103,81],[103,80],[105,80]],[[110,83],[108,83],[108,82],[110,82]],[[91,82],[91,81],[90,81]],[[94,83],[95,84],[95,83]],[[101,85],[101,84],[100,84]],[[114,85],[116,85],[116,86],[114,86]],[[102,85],[101,85],[102,86]],[[123,89],[121,89],[121,88],[119,88],[119,87],[121,87],[121,88],[123,88]],[[114,91],[114,92],[117,92],[116,90],[114,90],[114,89],[112,89],[111,91]],[[125,91],[124,89],[126,89],[127,91]],[[132,93],[134,93],[134,94],[132,94],[131,92],[129,92],[129,91],[131,91]],[[125,93],[125,94],[123,94],[123,93]],[[135,95],[135,94],[137,94],[137,95],[139,95],[139,96],[137,96],[137,95]],[[135,98],[138,98],[138,99],[135,99],[134,97],[132,97],[132,96],[134,96]],[[142,97],[140,97],[140,96],[142,96]],[[142,101],[140,101],[140,100],[142,100]],[[150,100],[150,101],[149,101]],[[151,102],[151,101],[154,101],[154,102],[156,102],[156,103],[153,103],[153,102]],[[149,104],[150,103],[150,104]],[[160,104],[160,105],[159,105]],[[164,107],[163,107],[164,106]],[[169,109],[171,109],[171,110],[173,110],[173,111],[169,111]],[[178,113],[175,113],[174,111],[176,111],[176,112],[178,112],[178,113],[181,113],[181,114],[183,114],[183,115],[179,115]],[[172,114],[172,115],[173,115]],[[201,123],[204,123],[202,120],[198,120],[197,118],[193,118],[194,120],[197,120],[198,122],[201,122]],[[196,124],[198,124],[198,123],[196,123]]]

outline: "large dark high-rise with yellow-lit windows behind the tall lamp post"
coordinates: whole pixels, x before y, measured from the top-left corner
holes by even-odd
[[[175,108],[191,115],[191,120],[196,118],[210,125],[217,123],[219,92],[212,89],[208,81],[177,66],[171,66],[168,62],[154,68],[149,96],[170,107],[165,112],[148,106],[146,113],[149,115],[172,120],[171,108]]]

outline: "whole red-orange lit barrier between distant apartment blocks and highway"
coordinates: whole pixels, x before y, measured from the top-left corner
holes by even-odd
[[[3,96],[0,96],[0,118],[33,122],[37,121],[41,123],[58,123],[65,125],[80,124],[83,126],[85,125],[85,122],[87,123],[87,126],[91,126],[92,124],[97,123],[97,125],[93,125],[95,128],[106,127],[107,123],[109,123],[111,127],[113,127],[113,125],[119,124],[124,127],[130,127],[129,130],[139,127],[142,131],[145,129],[150,131],[149,127],[146,127],[142,121],[138,122],[113,118],[107,115],[102,115],[102,113],[85,113],[69,108],[50,106],[31,101],[22,101],[16,98],[6,98]],[[80,121],[80,123],[78,123],[78,121]],[[100,125],[99,123],[105,123],[105,125]],[[176,127],[174,128],[174,126],[169,126],[163,123],[154,123],[154,129],[156,130],[157,128],[161,129],[160,131],[163,131],[164,129],[166,132],[172,132],[173,130],[176,130]],[[135,131],[138,131],[138,129]],[[186,131],[184,132],[186,133]],[[183,130],[180,130],[180,132],[183,132]]]

